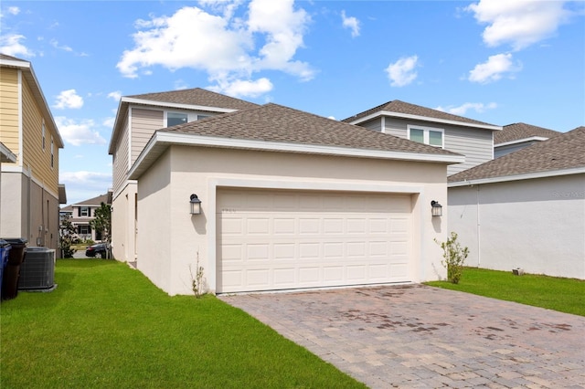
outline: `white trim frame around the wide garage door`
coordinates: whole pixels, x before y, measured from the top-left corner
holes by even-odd
[[[368,192],[368,193],[388,193],[388,194],[401,194],[401,195],[419,195],[419,201],[424,199],[424,186],[422,185],[396,185],[396,184],[355,184],[347,182],[335,182],[335,183],[314,183],[314,182],[286,182],[276,180],[261,180],[261,179],[242,179],[242,178],[215,178],[207,181],[207,194],[210,198],[204,199],[206,202],[205,215],[207,217],[207,255],[209,264],[207,268],[207,283],[212,293],[217,292],[217,268],[218,268],[218,237],[217,237],[217,200],[218,200],[218,188],[231,187],[231,188],[259,188],[267,190],[284,189],[284,190],[317,190],[322,192]],[[415,206],[416,208],[416,206]],[[411,214],[414,217],[414,212]],[[414,226],[411,226],[414,230]],[[420,231],[418,231],[420,234]],[[414,231],[413,231],[414,234]],[[423,237],[420,238],[420,245],[422,244]],[[414,247],[412,247],[414,248]],[[420,249],[420,258],[411,258],[414,263],[416,260],[419,261],[419,266],[422,266],[422,249]]]

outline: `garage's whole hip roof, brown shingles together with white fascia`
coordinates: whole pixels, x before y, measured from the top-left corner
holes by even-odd
[[[463,163],[464,157],[353,124],[269,103],[156,131],[130,172],[139,177],[170,144]]]

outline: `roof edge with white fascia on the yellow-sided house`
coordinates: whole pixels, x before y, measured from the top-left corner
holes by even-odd
[[[53,134],[55,145],[59,149],[62,149],[64,147],[63,139],[58,132],[58,127],[53,118],[53,114],[48,108],[47,100],[45,99],[43,90],[40,88],[40,83],[38,82],[37,75],[35,75],[35,70],[33,70],[32,64],[24,59],[0,53],[0,67],[17,68],[22,71],[24,79],[27,80],[27,84],[32,90],[33,98],[37,102],[38,109],[41,111],[43,117],[47,119],[46,125],[48,130]]]

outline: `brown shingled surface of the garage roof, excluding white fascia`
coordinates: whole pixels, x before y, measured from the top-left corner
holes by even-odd
[[[160,131],[362,150],[459,155],[273,103],[213,116],[202,121],[192,121]]]

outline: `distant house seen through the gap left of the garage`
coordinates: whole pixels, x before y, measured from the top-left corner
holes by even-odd
[[[91,228],[90,221],[95,219],[95,210],[100,208],[102,203],[112,205],[112,192],[65,206],[61,208],[60,215],[71,217],[70,222],[75,227],[75,232],[80,239],[101,241],[104,238],[101,237],[101,231]]]

